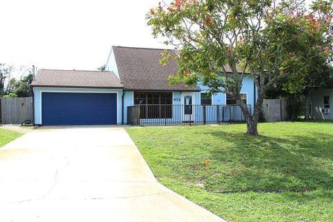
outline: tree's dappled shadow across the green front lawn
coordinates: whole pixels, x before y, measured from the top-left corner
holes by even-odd
[[[222,172],[213,169],[212,176],[205,180],[207,191],[333,189],[331,135],[275,138],[220,130],[209,133],[221,141],[221,146],[208,150],[212,162],[230,167]],[[223,146],[223,142],[229,146]]]

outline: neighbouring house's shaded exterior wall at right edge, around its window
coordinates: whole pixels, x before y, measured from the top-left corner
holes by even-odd
[[[323,96],[330,96],[330,113],[323,114]],[[311,100],[311,114],[314,119],[333,119],[333,89],[316,89],[309,92]]]

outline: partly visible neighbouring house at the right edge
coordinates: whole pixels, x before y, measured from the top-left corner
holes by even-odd
[[[311,117],[313,119],[333,119],[333,89],[321,87],[309,92]]]

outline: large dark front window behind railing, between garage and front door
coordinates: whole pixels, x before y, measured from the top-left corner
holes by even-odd
[[[141,119],[172,118],[172,92],[134,92]]]

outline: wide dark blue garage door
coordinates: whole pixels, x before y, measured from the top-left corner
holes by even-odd
[[[115,93],[42,93],[45,126],[117,124]]]

